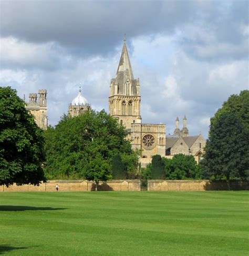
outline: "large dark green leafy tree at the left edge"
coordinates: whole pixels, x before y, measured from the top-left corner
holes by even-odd
[[[43,131],[11,87],[0,87],[0,185],[45,182]]]

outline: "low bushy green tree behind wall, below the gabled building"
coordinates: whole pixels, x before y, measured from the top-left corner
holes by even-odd
[[[200,179],[201,172],[193,156],[174,155],[172,159],[163,158],[165,179]]]

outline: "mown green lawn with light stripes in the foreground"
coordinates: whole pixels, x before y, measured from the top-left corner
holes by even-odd
[[[249,255],[249,192],[1,192],[0,254]]]

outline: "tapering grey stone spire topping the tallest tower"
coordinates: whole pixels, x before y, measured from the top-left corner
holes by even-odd
[[[123,40],[123,49],[119,60],[118,70],[115,78],[115,84],[118,85],[118,95],[138,95],[137,86],[139,81],[134,79],[128,50],[126,47],[126,38]]]

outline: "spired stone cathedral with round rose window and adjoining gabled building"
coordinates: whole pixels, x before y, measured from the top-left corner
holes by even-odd
[[[179,119],[173,136],[166,136],[165,124],[143,124],[140,114],[140,82],[134,79],[126,40],[123,42],[116,77],[111,79],[109,91],[109,114],[126,127],[133,150],[140,150],[141,166],[151,162],[154,155],[172,158],[177,153],[193,155],[198,161],[204,152],[205,139],[189,136],[186,117],[183,128],[179,129]]]

